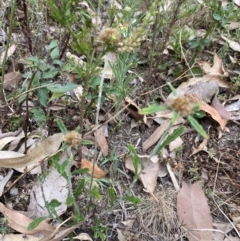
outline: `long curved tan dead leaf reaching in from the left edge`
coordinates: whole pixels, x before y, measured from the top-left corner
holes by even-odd
[[[49,136],[30,150],[27,155],[17,158],[0,158],[0,167],[5,168],[24,168],[28,165],[39,163],[46,157],[57,152],[63,141],[63,134],[57,133]]]

